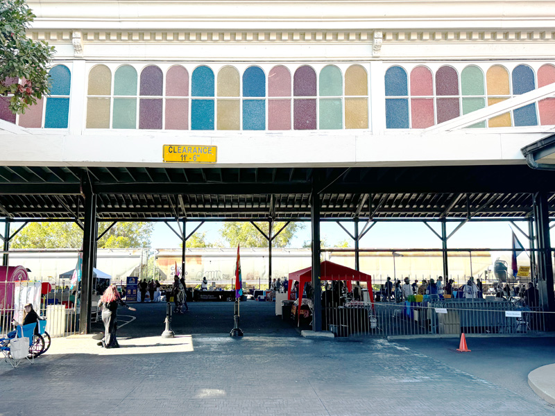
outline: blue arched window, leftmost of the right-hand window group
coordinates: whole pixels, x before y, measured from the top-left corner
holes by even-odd
[[[386,128],[409,128],[409,98],[407,71],[391,67],[386,71]]]

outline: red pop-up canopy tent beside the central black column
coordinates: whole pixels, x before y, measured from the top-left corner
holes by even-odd
[[[323,261],[320,263],[320,279],[321,280],[345,280],[347,281],[348,291],[352,291],[352,281],[366,281],[368,284],[368,294],[370,302],[374,302],[374,293],[372,291],[372,277],[366,273],[359,272],[355,269],[341,266],[341,264],[332,263],[331,261]],[[287,298],[291,300],[291,288],[293,281],[299,282],[299,293],[302,297],[302,291],[305,283],[312,281],[312,267],[307,267],[296,272],[289,273],[289,288],[287,289]]]

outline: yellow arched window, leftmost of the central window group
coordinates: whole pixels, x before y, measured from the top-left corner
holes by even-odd
[[[110,91],[112,71],[96,65],[89,72],[87,91],[87,128],[110,128]]]

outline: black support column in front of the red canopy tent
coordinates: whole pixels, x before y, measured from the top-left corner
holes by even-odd
[[[313,187],[310,195],[310,221],[312,230],[312,288],[313,314],[312,329],[314,332],[322,331],[322,304],[320,284],[320,196]],[[302,288],[299,288],[299,299],[302,297]],[[300,301],[299,301],[300,304]]]

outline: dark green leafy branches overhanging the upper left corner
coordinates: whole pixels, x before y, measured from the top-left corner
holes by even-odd
[[[13,113],[25,112],[49,93],[47,66],[54,46],[26,37],[25,29],[34,18],[24,0],[0,0],[0,96],[12,95]]]

